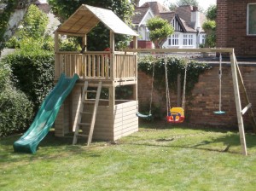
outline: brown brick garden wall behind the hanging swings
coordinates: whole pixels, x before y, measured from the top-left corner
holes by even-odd
[[[256,115],[256,66],[243,65],[240,67],[241,75],[247,89],[249,100],[253,104],[253,111]],[[143,72],[138,72],[138,100],[139,107],[149,105],[151,92],[151,77]],[[199,82],[195,84],[192,95],[186,96],[186,118],[189,124],[212,125],[237,127],[236,103],[232,74],[230,65],[224,65],[222,76],[222,110],[224,115],[213,114],[218,111],[218,65],[215,65],[207,72],[201,74]],[[160,86],[154,87],[153,102],[154,105],[161,106],[163,118],[166,115],[166,90],[159,90]],[[177,96],[171,92],[172,107],[176,107]],[[245,107],[245,99],[241,95],[242,107]],[[154,113],[153,113],[154,114]],[[248,113],[244,115],[244,122],[247,126],[251,125]]]

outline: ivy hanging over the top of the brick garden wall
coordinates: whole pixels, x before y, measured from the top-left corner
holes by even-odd
[[[153,55],[146,55],[139,57],[138,69],[152,76],[154,68],[154,87],[162,89],[166,87],[165,62],[168,86],[175,92],[177,92],[177,75],[181,74],[183,86],[185,68],[187,67],[186,94],[191,94],[195,84],[198,82],[200,74],[211,68],[206,63],[199,63],[182,57],[167,56],[166,58],[155,58]]]

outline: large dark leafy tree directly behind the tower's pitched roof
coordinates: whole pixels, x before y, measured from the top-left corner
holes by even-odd
[[[88,4],[103,9],[111,9],[127,24],[131,24],[131,16],[134,10],[134,5],[129,0],[48,0],[48,2],[52,6],[54,14],[61,20],[61,22],[67,20],[67,18],[72,15],[81,4]],[[102,23],[89,32],[87,38],[87,48],[90,50],[103,50],[109,47],[109,30],[103,26]],[[116,45],[118,45],[116,48],[120,49],[122,46],[126,46],[127,43],[124,44],[122,42],[127,42],[128,40],[131,40],[131,38],[125,35],[115,35],[115,42]]]

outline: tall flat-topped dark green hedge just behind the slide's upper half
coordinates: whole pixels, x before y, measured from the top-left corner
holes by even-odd
[[[54,85],[54,55],[45,51],[8,55],[4,61],[12,69],[12,81],[35,106],[35,112]]]

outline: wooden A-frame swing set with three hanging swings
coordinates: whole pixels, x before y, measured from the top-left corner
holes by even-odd
[[[245,85],[243,83],[242,77],[241,77],[241,72],[238,67],[238,63],[236,61],[236,55],[234,49],[125,49],[127,52],[140,52],[140,53],[226,53],[230,55],[230,67],[231,67],[231,72],[232,72],[232,80],[233,80],[233,87],[234,87],[234,95],[235,95],[235,102],[236,102],[236,115],[237,115],[237,122],[238,122],[238,130],[239,130],[239,136],[240,136],[240,142],[241,142],[241,152],[243,155],[247,155],[247,144],[246,144],[246,137],[245,137],[245,131],[244,131],[244,123],[243,123],[243,115],[247,113],[248,110],[250,110],[252,119],[253,119],[253,128],[256,126],[256,120],[253,116],[253,109],[252,109],[252,104],[248,100],[247,96],[247,91],[245,88]],[[218,105],[218,111],[213,112],[215,114],[224,114],[225,112],[221,110],[221,76],[222,76],[222,57],[220,56],[220,66],[219,66],[219,105]],[[185,84],[185,83],[184,83]],[[240,90],[245,94],[246,96],[246,102],[247,106],[246,107],[241,107],[241,93]],[[183,90],[183,94],[184,94]],[[167,93],[166,93],[167,95]],[[152,95],[151,95],[152,96]],[[151,105],[152,103],[150,103]],[[171,106],[170,106],[171,107]],[[167,113],[167,118],[168,120],[170,119],[170,122],[183,122],[184,119],[184,114],[183,114],[183,107],[172,107],[169,112],[169,105],[168,105],[168,113]],[[178,108],[178,109],[177,109]],[[151,108],[150,112],[148,115],[144,116],[146,118],[152,117],[151,114]],[[138,117],[140,117],[140,114],[138,113]],[[143,116],[142,116],[143,117]]]

